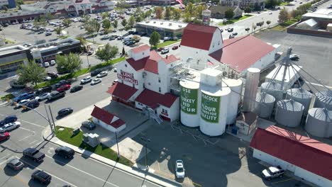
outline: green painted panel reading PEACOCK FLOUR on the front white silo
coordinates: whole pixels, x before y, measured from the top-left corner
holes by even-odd
[[[220,96],[201,93],[201,118],[210,123],[219,122]]]

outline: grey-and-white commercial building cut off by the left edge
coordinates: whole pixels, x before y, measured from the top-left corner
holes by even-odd
[[[33,60],[30,50],[22,45],[0,48],[0,73],[18,69],[21,64]]]

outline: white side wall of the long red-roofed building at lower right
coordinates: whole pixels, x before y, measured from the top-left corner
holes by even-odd
[[[273,157],[270,154],[267,154],[265,152],[261,152],[258,149],[254,149],[253,151],[253,157],[260,159],[264,162],[267,162],[268,164],[274,165],[274,166],[281,166],[282,169],[287,169],[289,171],[294,172],[295,176],[299,176],[300,178],[303,178],[306,181],[310,181],[311,183],[314,183],[318,186],[322,187],[329,187],[332,186],[332,181],[323,178],[322,176],[318,176],[316,174],[311,173],[310,171],[306,171],[305,169],[302,169],[298,166],[294,166],[293,164],[290,164],[289,162],[285,162],[282,159],[278,159],[277,157]]]

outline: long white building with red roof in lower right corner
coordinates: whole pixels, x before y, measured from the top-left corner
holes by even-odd
[[[253,157],[316,184],[332,186],[332,146],[276,126],[258,128],[250,142]]]

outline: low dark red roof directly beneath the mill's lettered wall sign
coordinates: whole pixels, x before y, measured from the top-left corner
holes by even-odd
[[[117,82],[116,84],[111,86],[111,88],[109,88],[107,93],[112,94],[113,96],[116,96],[118,98],[121,98],[124,101],[128,101],[128,99],[131,98],[131,96],[133,96],[133,94],[135,94],[136,91],[138,91],[138,89]]]

